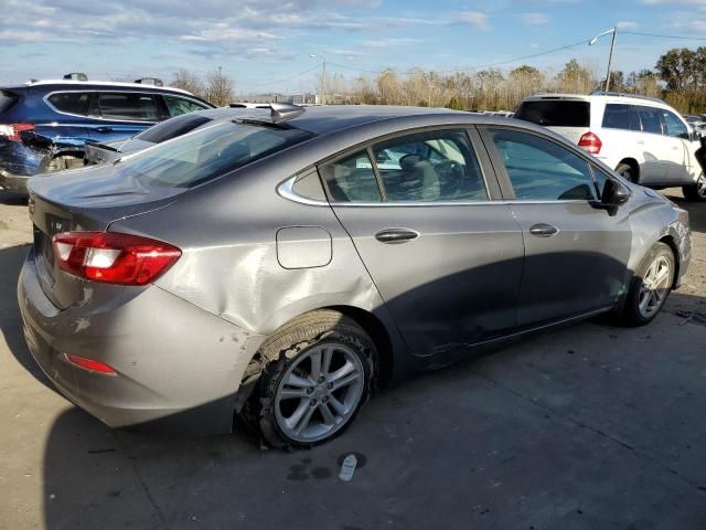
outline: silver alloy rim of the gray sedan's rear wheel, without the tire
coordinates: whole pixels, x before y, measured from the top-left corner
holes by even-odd
[[[275,394],[275,417],[282,434],[300,443],[332,436],[355,413],[365,370],[345,344],[321,343],[298,357]]]

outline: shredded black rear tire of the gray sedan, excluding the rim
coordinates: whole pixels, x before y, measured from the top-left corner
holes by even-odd
[[[314,348],[342,344],[352,352],[363,368],[362,395],[357,405],[340,424],[321,439],[301,441],[288,436],[278,424],[276,395],[288,369]],[[264,441],[277,448],[307,448],[320,445],[342,434],[353,423],[361,406],[367,401],[376,377],[377,351],[365,330],[339,311],[320,309],[292,320],[267,339],[254,362],[260,375],[253,394],[245,403],[240,417],[246,425],[256,427]],[[248,370],[252,372],[253,370]]]

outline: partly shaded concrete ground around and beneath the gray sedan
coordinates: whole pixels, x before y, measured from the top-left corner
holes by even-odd
[[[0,197],[0,528],[703,530],[706,204],[682,203],[692,267],[652,325],[537,335],[385,391],[342,437],[284,453],[243,434],[111,431],[52,390],[15,301],[26,206]]]

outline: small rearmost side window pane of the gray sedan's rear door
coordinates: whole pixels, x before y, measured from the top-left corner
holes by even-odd
[[[373,165],[366,150],[330,162],[320,168],[335,202],[381,202],[381,194]]]

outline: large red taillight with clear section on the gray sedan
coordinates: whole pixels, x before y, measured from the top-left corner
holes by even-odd
[[[52,239],[62,271],[79,278],[119,285],[156,280],[181,256],[161,241],[117,232],[64,232]]]

